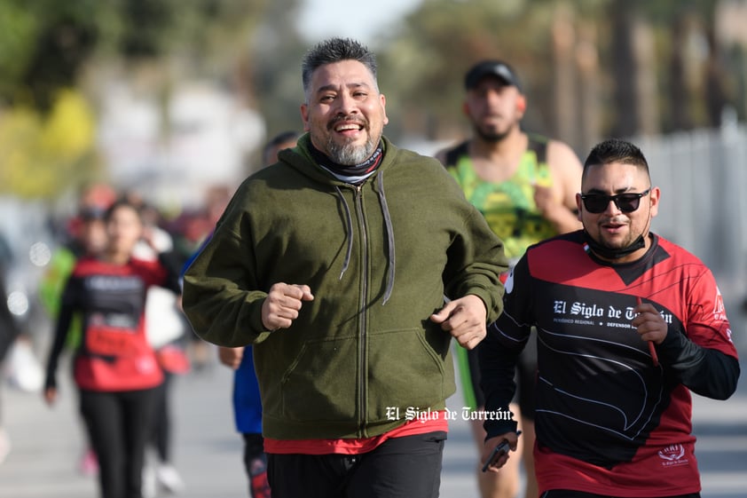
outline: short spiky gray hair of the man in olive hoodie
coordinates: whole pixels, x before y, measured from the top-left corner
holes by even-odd
[[[342,60],[358,60],[366,66],[371,75],[374,76],[376,91],[379,91],[376,82],[376,56],[374,52],[369,51],[366,45],[350,38],[330,38],[317,43],[310,51],[306,52],[303,58],[301,75],[303,78],[303,93],[306,96],[307,103],[311,92],[311,75],[314,74],[314,71],[326,64],[333,64]]]

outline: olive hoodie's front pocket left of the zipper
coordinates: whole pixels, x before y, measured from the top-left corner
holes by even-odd
[[[356,417],[357,341],[307,341],[280,380],[282,414],[296,422]]]

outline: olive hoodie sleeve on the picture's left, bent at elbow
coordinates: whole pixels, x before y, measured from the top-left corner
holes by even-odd
[[[219,223],[187,268],[182,294],[194,332],[227,347],[261,342],[270,333],[262,324],[267,293],[258,289],[253,244],[232,230],[238,224]]]

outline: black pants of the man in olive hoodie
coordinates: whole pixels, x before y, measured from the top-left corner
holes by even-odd
[[[267,455],[272,498],[436,498],[445,439],[435,431],[362,455]]]

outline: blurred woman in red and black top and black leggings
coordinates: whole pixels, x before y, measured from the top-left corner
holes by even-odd
[[[140,498],[145,443],[163,374],[145,337],[145,293],[158,285],[179,291],[176,265],[131,257],[144,236],[138,208],[125,201],[106,211],[108,242],[97,257],[83,257],[62,295],[47,362],[44,399],[57,398],[55,374],[75,314],[83,338],[75,352],[80,408],[98,455],[102,498]]]

